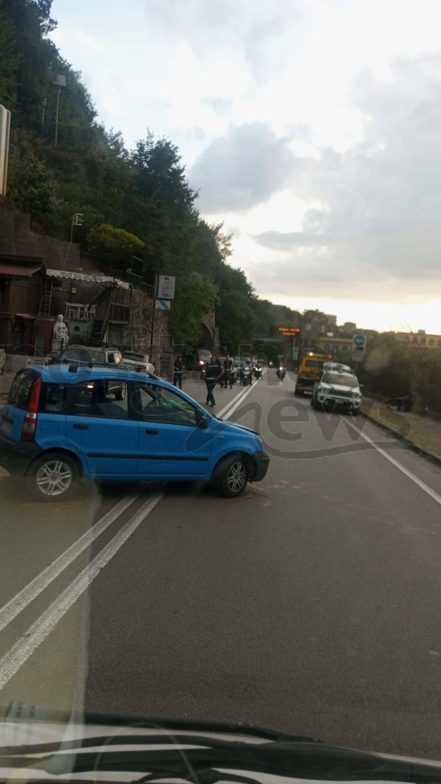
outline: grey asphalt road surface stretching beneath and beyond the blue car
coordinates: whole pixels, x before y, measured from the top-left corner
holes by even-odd
[[[272,454],[240,499],[94,486],[52,506],[0,477],[0,703],[441,759],[441,470],[272,370],[230,418]]]

